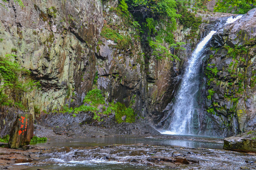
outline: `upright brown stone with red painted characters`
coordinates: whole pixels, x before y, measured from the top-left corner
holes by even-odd
[[[9,148],[17,149],[29,144],[33,134],[33,115],[31,113],[18,114],[10,132]]]

